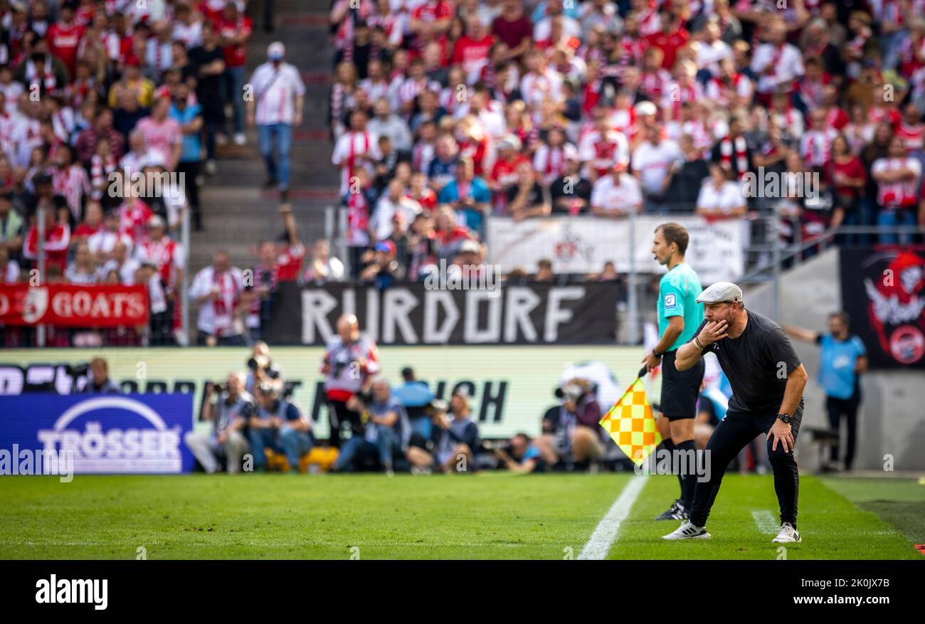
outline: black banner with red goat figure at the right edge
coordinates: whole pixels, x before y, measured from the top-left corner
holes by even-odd
[[[925,368],[925,253],[842,249],[842,307],[870,368]]]

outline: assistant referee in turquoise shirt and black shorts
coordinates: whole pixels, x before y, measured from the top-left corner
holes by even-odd
[[[697,475],[697,447],[694,444],[694,419],[697,416],[697,397],[703,382],[703,361],[697,361],[686,371],[674,366],[677,349],[694,337],[697,325],[703,320],[703,305],[697,296],[703,290],[700,278],[685,263],[685,251],[690,236],[684,226],[663,223],[655,228],[652,254],[668,273],[659,283],[659,344],[643,358],[646,372],[661,361],[661,400],[659,431],[660,449],[672,454],[672,471],[681,483],[681,496],[672,507],[656,520],[684,520],[694,502]]]

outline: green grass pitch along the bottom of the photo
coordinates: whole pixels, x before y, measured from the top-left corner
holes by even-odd
[[[0,558],[577,558],[626,474],[78,476],[0,479]],[[728,475],[711,540],[668,543],[652,520],[676,496],[648,477],[609,557],[763,559],[770,476]],[[923,559],[925,485],[800,480],[789,559]]]

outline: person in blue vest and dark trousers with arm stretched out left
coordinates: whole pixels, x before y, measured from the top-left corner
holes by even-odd
[[[850,471],[857,442],[857,410],[861,404],[861,374],[868,370],[867,348],[849,331],[846,312],[829,314],[829,332],[822,334],[796,325],[783,325],[783,331],[799,340],[820,346],[819,384],[825,390],[825,410],[829,425],[839,431],[842,419],[847,426],[845,470]],[[838,463],[838,444],[830,460]]]

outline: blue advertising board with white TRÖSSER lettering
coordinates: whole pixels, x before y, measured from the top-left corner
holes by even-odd
[[[75,474],[192,470],[191,394],[0,396],[0,451],[71,451]]]

